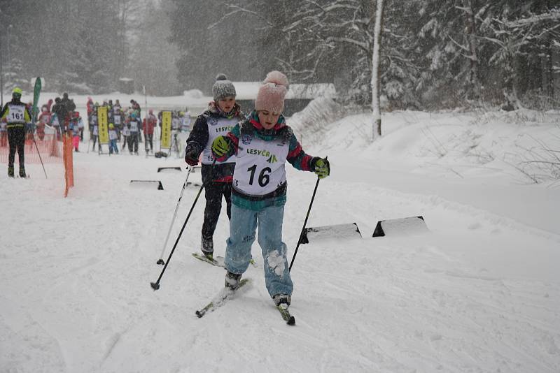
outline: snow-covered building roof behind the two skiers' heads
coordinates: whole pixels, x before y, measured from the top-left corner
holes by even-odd
[[[237,100],[254,100],[257,98],[258,89],[261,82],[233,82],[235,91],[237,92]],[[286,98],[303,98],[313,99],[319,96],[333,97],[336,96],[335,85],[332,83],[316,83],[316,84],[293,84],[288,89]]]

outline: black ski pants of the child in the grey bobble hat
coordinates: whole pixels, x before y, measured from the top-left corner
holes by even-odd
[[[209,240],[216,231],[218,217],[222,210],[222,196],[227,203],[226,211],[228,219],[232,217],[232,183],[230,182],[208,182],[204,186],[204,197],[206,207],[204,208],[204,222],[202,223],[202,237]]]

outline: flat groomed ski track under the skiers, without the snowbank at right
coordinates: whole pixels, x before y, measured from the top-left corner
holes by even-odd
[[[290,307],[296,326],[274,309],[262,265],[249,266],[253,284],[244,293],[197,319],[225,275],[190,256],[200,244],[204,196],[153,291],[185,177],[155,168],[181,160],[104,157],[76,156],[69,198],[60,198],[59,180],[22,187],[27,198],[15,220],[25,226],[13,227],[0,251],[2,372],[158,372],[162,362],[169,372],[560,371],[559,282],[510,276],[462,254],[503,247],[511,237],[519,238],[515,250],[526,242],[550,247],[560,242],[556,235],[437,196],[361,183],[341,193],[348,184],[332,177],[321,181],[307,225],[357,221],[363,238],[300,246]],[[127,185],[143,174],[162,180],[165,191]],[[288,166],[288,180],[289,261],[315,179]],[[196,193],[183,194],[165,261]],[[37,194],[43,200],[30,197]],[[15,210],[16,202],[6,205]],[[419,212],[430,233],[371,237],[378,219]],[[218,255],[228,237],[224,217],[225,206]],[[262,263],[256,243],[253,256]]]

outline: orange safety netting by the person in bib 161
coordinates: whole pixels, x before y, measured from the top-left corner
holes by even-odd
[[[73,178],[73,155],[72,155],[71,136],[60,136],[56,134],[45,134],[31,138],[27,135],[25,140],[25,163],[62,163],[64,164],[64,197],[68,196],[68,189],[74,186]],[[0,162],[8,163],[8,134],[0,133]],[[15,154],[15,161],[18,162],[18,154]]]

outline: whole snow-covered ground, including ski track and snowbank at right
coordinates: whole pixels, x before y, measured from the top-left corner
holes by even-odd
[[[300,246],[293,327],[256,243],[251,285],[197,319],[225,275],[190,255],[204,198],[151,288],[186,177],[156,171],[182,159],[75,154],[68,198],[59,165],[48,180],[40,165],[8,180],[1,165],[0,372],[559,372],[560,185],[530,184],[512,159],[535,140],[554,147],[560,115],[530,116],[393,112],[375,142],[367,115],[293,118],[304,149],[332,166],[307,225],[356,222],[363,236]],[[288,166],[289,258],[315,182]],[[378,220],[417,215],[429,233],[372,237]],[[216,254],[227,237],[223,211]]]

